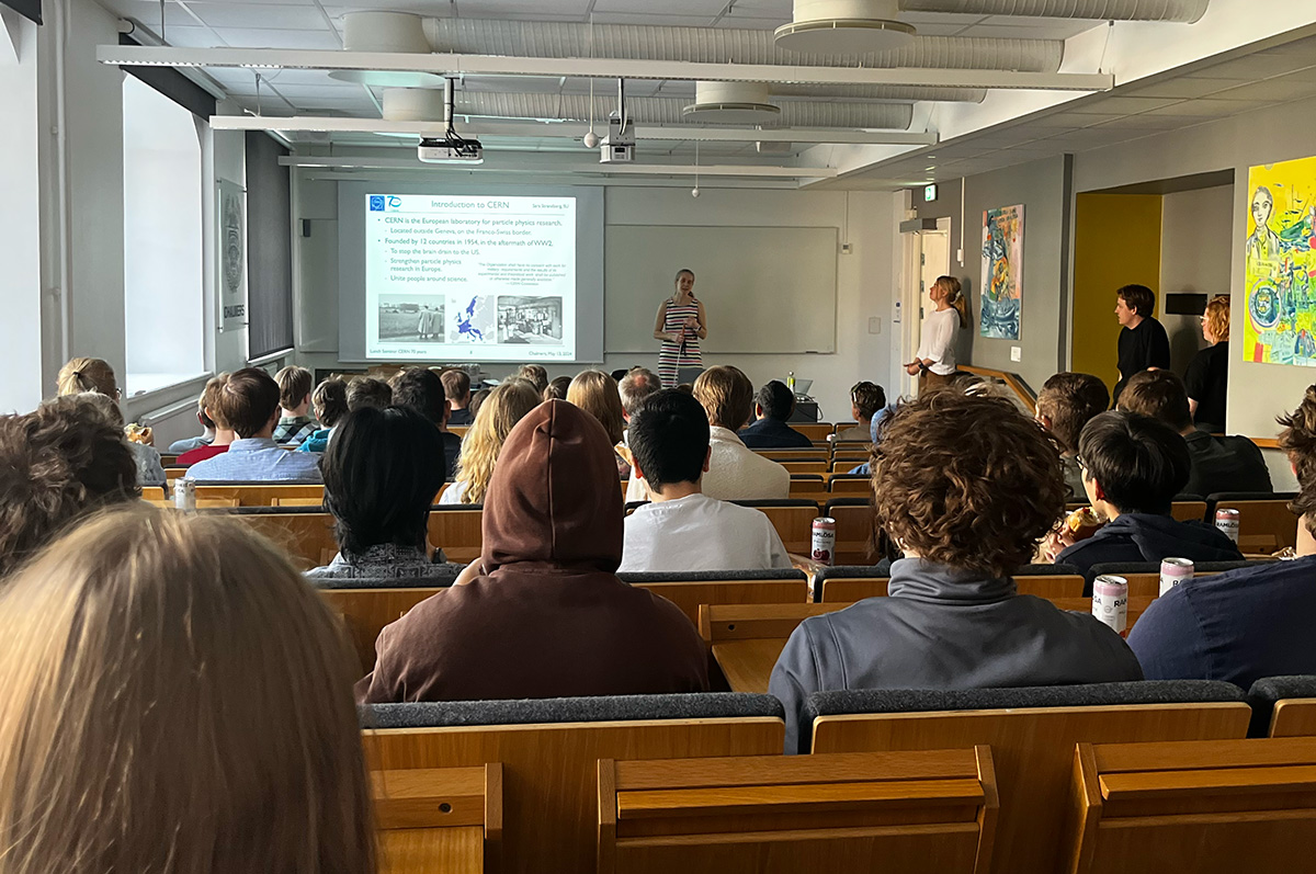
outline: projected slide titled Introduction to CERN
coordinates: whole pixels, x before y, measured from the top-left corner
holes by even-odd
[[[576,359],[576,199],[368,191],[365,353]]]

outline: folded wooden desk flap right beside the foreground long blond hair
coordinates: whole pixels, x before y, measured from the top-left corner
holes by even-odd
[[[499,870],[503,766],[371,771],[379,874]]]

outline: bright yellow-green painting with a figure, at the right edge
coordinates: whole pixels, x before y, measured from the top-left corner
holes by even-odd
[[[1244,359],[1316,367],[1316,158],[1248,174]]]

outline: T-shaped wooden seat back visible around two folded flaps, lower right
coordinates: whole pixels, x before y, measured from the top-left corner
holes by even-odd
[[[822,716],[813,750],[991,746],[1001,799],[991,870],[1057,871],[1075,744],[1241,738],[1250,715],[1217,703]]]

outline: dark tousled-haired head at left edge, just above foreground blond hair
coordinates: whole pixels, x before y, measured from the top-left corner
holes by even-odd
[[[0,577],[74,520],[141,496],[124,432],[97,400],[70,395],[0,416]]]

